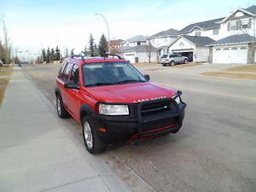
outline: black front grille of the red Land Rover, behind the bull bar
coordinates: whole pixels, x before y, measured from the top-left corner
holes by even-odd
[[[171,101],[145,103],[142,107],[142,115],[160,113],[172,109]]]

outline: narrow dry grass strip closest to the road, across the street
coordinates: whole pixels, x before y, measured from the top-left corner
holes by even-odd
[[[235,78],[235,79],[254,79],[256,80],[256,73],[225,73],[225,72],[206,72],[201,73],[207,76],[217,76],[223,78]]]

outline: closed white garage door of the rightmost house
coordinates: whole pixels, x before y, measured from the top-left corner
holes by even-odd
[[[213,63],[247,63],[247,47],[214,48]]]

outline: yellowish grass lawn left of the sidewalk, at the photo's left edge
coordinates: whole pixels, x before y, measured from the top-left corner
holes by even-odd
[[[6,69],[9,69],[8,71]],[[0,68],[0,107],[3,102],[4,92],[9,83],[9,77],[12,74],[12,68],[1,67]]]

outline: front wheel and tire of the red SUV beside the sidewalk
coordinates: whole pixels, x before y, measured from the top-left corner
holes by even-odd
[[[100,154],[106,148],[106,143],[102,142],[96,126],[90,116],[82,120],[84,145],[90,154]]]

